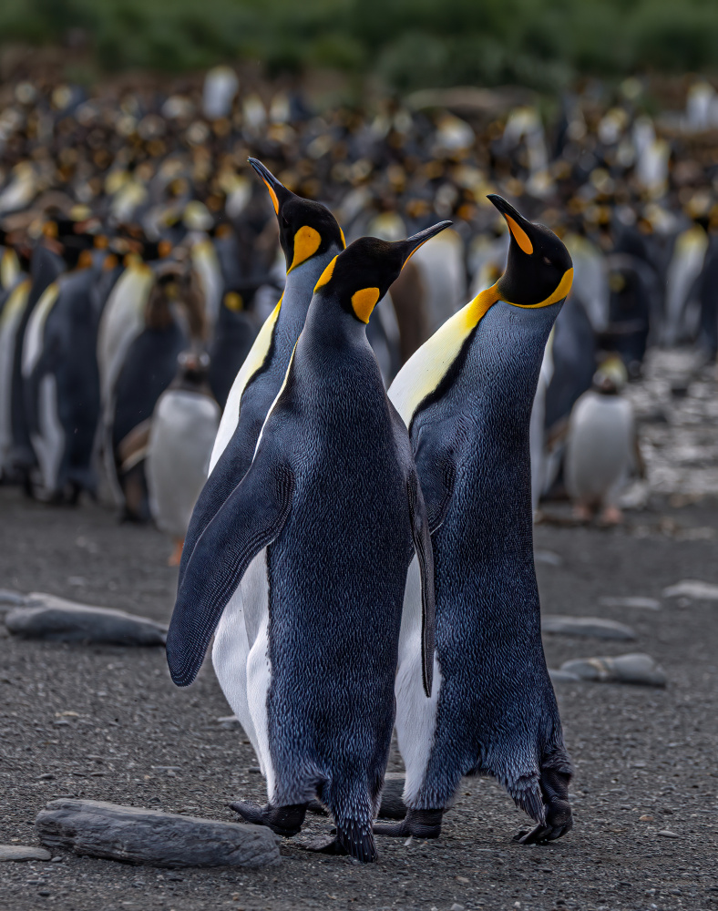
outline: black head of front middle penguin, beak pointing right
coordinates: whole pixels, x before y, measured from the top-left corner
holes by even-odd
[[[405,241],[360,237],[333,258],[314,287],[314,294],[332,297],[359,322],[369,322],[374,306],[412,255],[451,224],[440,221]]]

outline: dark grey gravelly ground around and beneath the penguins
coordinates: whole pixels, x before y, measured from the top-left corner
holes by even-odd
[[[654,399],[665,394],[645,389],[637,406],[649,422],[649,507],[612,531],[536,528],[543,610],[621,620],[638,637],[547,636],[549,667],[645,651],[669,679],[665,690],[557,684],[576,765],[567,837],[514,844],[528,820],[495,783],[473,780],[438,841],[381,839],[378,865],[304,851],[303,839],[330,825],[308,817],[306,835],[282,843],[281,864],[262,870],[168,871],[67,854],[56,863],[0,864],[0,911],[718,908],[718,602],[662,597],[684,578],[718,582],[718,499],[676,496],[675,486],[670,496],[678,476],[693,495],[714,483],[716,422],[706,409],[715,410],[715,385],[698,384],[661,415],[652,414]],[[169,549],[159,532],[120,526],[105,507],[46,507],[0,487],[0,588],[167,621],[176,583]],[[661,607],[601,601],[625,596],[659,599]],[[234,818],[225,806],[231,798],[263,799],[241,729],[218,722],[231,709],[209,662],[179,690],[161,649],[15,640],[0,625],[2,636],[0,844],[37,844],[36,814],[56,797],[224,820]],[[400,768],[394,755],[390,769]]]

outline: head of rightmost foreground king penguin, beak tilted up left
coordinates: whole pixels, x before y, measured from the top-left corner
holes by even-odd
[[[563,241],[534,224],[500,196],[489,200],[503,215],[511,240],[506,271],[497,281],[501,300],[518,307],[548,307],[568,296],[573,263]]]

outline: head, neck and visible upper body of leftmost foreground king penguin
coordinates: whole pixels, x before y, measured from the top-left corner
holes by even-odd
[[[287,261],[287,281],[232,384],[212,449],[210,476],[187,529],[180,582],[192,548],[251,465],[264,418],[279,392],[302,332],[314,285],[344,250],[344,234],[332,213],[286,189],[262,162],[249,159],[269,190]]]

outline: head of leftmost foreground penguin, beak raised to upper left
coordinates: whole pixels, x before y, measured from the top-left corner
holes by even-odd
[[[249,159],[249,162],[269,190],[279,222],[279,240],[287,261],[287,273],[332,247],[344,250],[342,229],[326,206],[292,193],[261,161]]]

